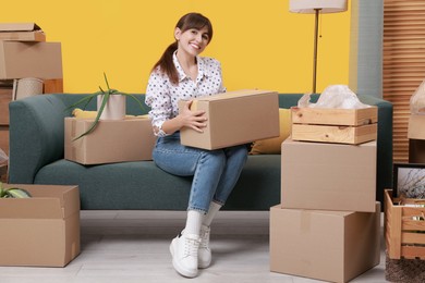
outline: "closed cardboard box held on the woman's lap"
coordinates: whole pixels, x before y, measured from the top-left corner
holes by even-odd
[[[184,101],[180,101],[182,108]],[[181,130],[181,143],[217,149],[279,136],[279,98],[276,91],[238,90],[198,98],[191,110],[204,110],[204,133]]]

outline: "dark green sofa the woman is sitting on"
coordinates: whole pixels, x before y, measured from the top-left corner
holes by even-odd
[[[82,165],[63,158],[63,120],[71,115],[64,109],[83,96],[39,95],[10,103],[9,183],[78,185],[84,210],[185,210],[191,177],[168,174],[153,161]],[[301,96],[279,95],[280,107],[295,106]],[[384,188],[391,186],[392,104],[371,96],[360,99],[379,108],[376,196],[381,201]],[[126,102],[129,114],[141,114],[132,99]],[[279,204],[280,158],[250,156],[224,209],[268,210]]]

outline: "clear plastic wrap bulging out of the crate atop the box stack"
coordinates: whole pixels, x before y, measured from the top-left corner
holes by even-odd
[[[317,103],[309,102],[309,94],[299,100],[299,107],[362,109],[371,106],[362,103],[347,85],[330,85],[324,89]]]

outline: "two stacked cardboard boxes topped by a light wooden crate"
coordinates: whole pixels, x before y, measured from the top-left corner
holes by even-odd
[[[270,270],[348,282],[380,259],[377,108],[292,109],[281,204],[270,209]]]

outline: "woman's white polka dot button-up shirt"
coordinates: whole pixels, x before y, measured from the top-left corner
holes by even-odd
[[[153,126],[158,128],[157,136],[166,136],[161,130],[165,121],[179,114],[179,100],[191,100],[203,96],[224,93],[221,64],[212,58],[196,57],[198,74],[196,81],[187,76],[181,67],[175,52],[173,62],[179,74],[179,85],[171,84],[168,76],[159,70],[150,74],[146,89],[146,104],[151,108],[149,118]]]

